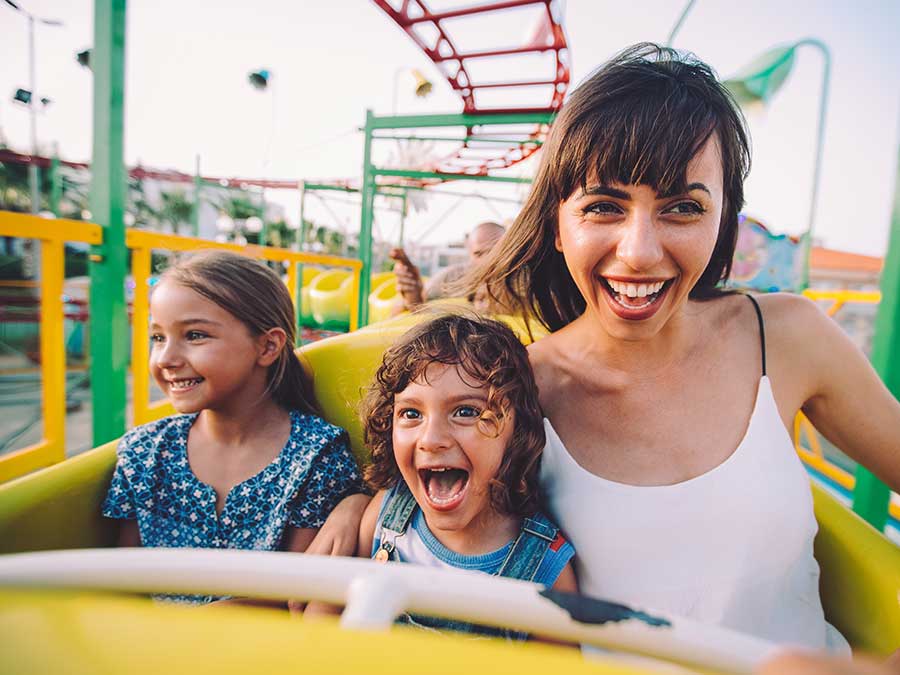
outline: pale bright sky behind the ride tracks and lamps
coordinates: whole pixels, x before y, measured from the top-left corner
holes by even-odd
[[[46,151],[58,142],[66,159],[89,160],[91,74],[75,53],[92,42],[88,0],[17,0],[29,11],[60,19],[63,27],[37,29],[38,96],[53,100],[38,119]],[[439,10],[472,0],[432,0]],[[641,40],[663,42],[683,7],[680,1],[569,0],[565,26],[573,84],[621,48]],[[507,15],[458,33],[464,47],[524,41],[528,15]],[[830,104],[816,234],[833,248],[880,255],[887,245],[900,140],[900,3],[891,0],[697,0],[675,46],[695,52],[722,77],[776,44],[815,37],[832,54]],[[11,102],[28,87],[26,21],[0,4],[0,129],[29,150],[27,111]],[[418,48],[366,0],[135,0],[128,7],[126,160],[205,174],[284,179],[358,177],[362,135],[354,130],[365,109],[391,112],[399,68],[417,67],[435,82],[415,99],[400,74],[398,112],[456,112],[458,98]],[[470,42],[471,41],[471,42]],[[272,89],[257,92],[246,76],[267,68]],[[533,69],[510,63],[511,78]],[[797,64],[766,110],[748,112],[753,170],[745,211],[775,232],[803,231],[810,206],[822,60],[798,51]],[[571,91],[571,90],[570,90]],[[274,109],[274,126],[273,126]],[[271,150],[266,161],[266,147]],[[390,148],[377,151],[384,157]],[[533,167],[532,167],[533,169]],[[516,173],[527,173],[522,166]],[[472,183],[476,190],[514,197],[521,188]],[[297,218],[296,193],[271,195]],[[352,197],[322,204],[310,215],[358,227]],[[459,203],[457,203],[459,202]],[[474,223],[514,215],[514,204],[434,197],[408,220],[413,240],[459,239]],[[394,236],[396,218],[379,212],[379,232]]]

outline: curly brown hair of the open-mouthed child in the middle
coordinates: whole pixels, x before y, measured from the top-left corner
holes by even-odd
[[[392,443],[394,396],[425,377],[433,363],[453,365],[487,388],[487,406],[479,420],[485,435],[499,435],[515,415],[515,428],[497,475],[491,481],[491,505],[500,513],[530,516],[538,509],[538,460],[544,448],[544,424],[537,384],[528,353],[504,324],[448,314],[404,334],[382,360],[363,401],[364,438],[372,451],[368,483],[386,489],[401,480]]]

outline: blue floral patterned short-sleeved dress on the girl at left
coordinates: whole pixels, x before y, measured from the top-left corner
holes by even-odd
[[[196,418],[144,424],[119,442],[103,515],[136,519],[144,546],[276,550],[285,527],[321,527],[341,499],[361,491],[346,432],[291,411],[291,435],[281,453],[235,485],[216,514],[215,490],[188,463]]]

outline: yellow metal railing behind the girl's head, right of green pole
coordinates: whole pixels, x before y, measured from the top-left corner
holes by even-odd
[[[150,324],[149,279],[151,253],[153,250],[196,251],[217,248],[234,251],[252,258],[287,262],[286,283],[295,307],[298,306],[298,264],[349,267],[353,272],[353,291],[350,298],[350,330],[354,331],[359,327],[355,311],[359,303],[359,279],[362,270],[362,262],[359,260],[314,253],[298,253],[284,248],[271,248],[268,246],[219,244],[206,239],[158,234],[146,230],[128,230],[125,233],[125,245],[132,249],[131,274],[134,277],[134,304],[131,322],[131,374],[133,384],[132,419],[135,426],[146,424],[174,413],[174,409],[168,401],[150,404],[150,373],[147,368],[147,362],[150,360],[150,340],[148,337]]]

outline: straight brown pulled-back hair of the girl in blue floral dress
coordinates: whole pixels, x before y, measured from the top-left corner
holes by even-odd
[[[251,335],[262,335],[272,328],[283,330],[287,340],[269,366],[266,391],[286,410],[316,412],[294,354],[294,303],[275,272],[237,253],[204,251],[170,267],[160,281],[172,281],[211,300],[243,323]]]

